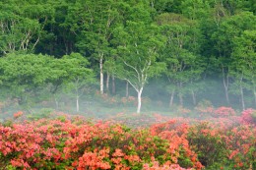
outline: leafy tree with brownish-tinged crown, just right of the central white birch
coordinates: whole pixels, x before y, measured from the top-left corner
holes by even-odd
[[[177,91],[180,105],[183,105],[185,85],[198,81],[204,71],[199,58],[201,36],[197,23],[176,14],[161,14],[156,21],[161,28],[161,33],[167,37],[162,51],[162,60],[167,65],[165,72],[169,84],[171,106],[174,92]],[[190,85],[191,86],[191,85]],[[193,97],[195,91],[192,88]]]

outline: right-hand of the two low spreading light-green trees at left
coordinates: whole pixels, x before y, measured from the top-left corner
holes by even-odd
[[[89,61],[79,53],[71,53],[49,63],[52,75],[47,82],[47,87],[54,96],[56,109],[59,107],[58,93],[66,88],[70,91],[75,90],[79,111],[79,97],[83,94],[85,85],[94,80],[93,70],[87,68],[89,64]]]

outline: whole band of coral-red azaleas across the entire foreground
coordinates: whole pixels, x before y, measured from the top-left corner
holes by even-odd
[[[244,111],[238,117],[231,116],[230,109],[220,110],[227,110],[224,115],[228,117],[163,122],[168,118],[160,114],[142,116],[139,122],[157,123],[137,129],[57,113],[54,120],[35,117],[19,123],[26,115],[17,112],[15,122],[0,124],[0,167],[183,170],[205,166],[252,170],[256,166],[256,129],[248,115],[253,111]]]

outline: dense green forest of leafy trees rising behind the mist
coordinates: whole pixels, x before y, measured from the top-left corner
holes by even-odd
[[[0,8],[1,98],[57,100],[65,88],[71,98],[135,96],[137,112],[143,97],[167,107],[256,106],[253,0],[2,0]]]

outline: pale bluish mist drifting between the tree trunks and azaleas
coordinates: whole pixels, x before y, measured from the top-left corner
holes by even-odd
[[[112,83],[110,82],[110,84]],[[37,86],[19,94],[10,88],[2,88],[0,119],[3,122],[17,111],[24,111],[27,115],[34,117],[39,117],[40,112],[48,112],[48,116],[53,112],[62,112],[94,120],[110,120],[116,115],[119,115],[119,120],[133,119],[133,116],[143,118],[146,115],[154,118],[156,114],[169,119],[183,117],[208,120],[215,118],[216,115],[210,112],[202,113],[200,109],[210,107],[218,109],[223,106],[235,110],[235,116],[240,116],[242,112],[238,94],[230,92],[230,102],[229,104],[226,102],[224,87],[220,80],[205,80],[201,86],[200,83],[196,84],[200,88],[197,89],[194,96],[191,92],[193,90],[190,88],[191,84],[184,85],[183,89],[175,90],[170,103],[172,90],[169,89],[168,82],[164,78],[152,79],[142,93],[142,110],[139,114],[136,113],[138,101],[135,89],[131,85],[128,85],[127,88],[126,82],[122,80],[115,80],[113,84],[115,84],[115,89],[112,90],[110,85],[107,89],[108,92],[103,94],[99,93],[97,85],[83,86],[80,89],[79,100],[76,90],[68,85],[61,85],[54,92],[51,92],[50,85],[48,87]],[[179,91],[182,91],[182,99],[180,99]],[[244,98],[246,108],[255,108],[253,96],[249,91],[244,92]]]

